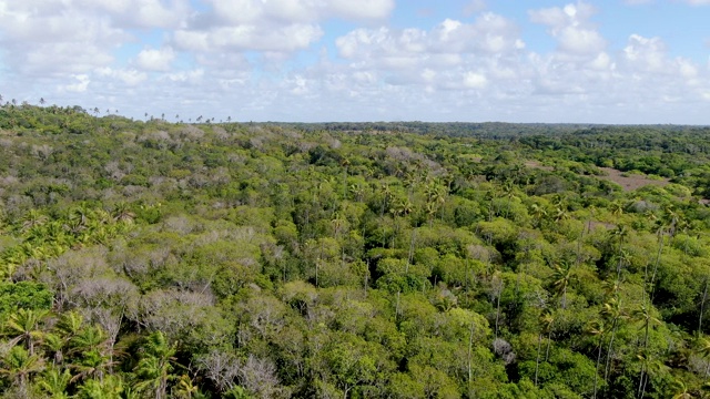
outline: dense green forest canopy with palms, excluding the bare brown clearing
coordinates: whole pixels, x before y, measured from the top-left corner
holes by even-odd
[[[709,186],[702,127],[7,104],[0,392],[702,397]]]

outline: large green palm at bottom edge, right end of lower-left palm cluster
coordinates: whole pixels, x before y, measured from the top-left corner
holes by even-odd
[[[143,349],[144,355],[135,366],[135,374],[142,381],[135,387],[139,391],[152,389],[155,399],[165,398],[175,346],[168,342],[163,332],[155,331],[148,336]]]

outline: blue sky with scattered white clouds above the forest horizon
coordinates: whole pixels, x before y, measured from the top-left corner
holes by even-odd
[[[0,0],[0,95],[169,121],[710,124],[710,0]]]

